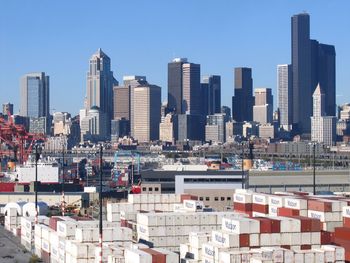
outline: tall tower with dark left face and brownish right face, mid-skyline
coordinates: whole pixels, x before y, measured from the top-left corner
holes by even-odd
[[[168,64],[168,107],[177,114],[201,114],[200,65],[176,58]]]

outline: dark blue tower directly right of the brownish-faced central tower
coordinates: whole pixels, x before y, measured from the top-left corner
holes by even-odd
[[[204,76],[201,83],[203,115],[213,115],[221,111],[221,77]]]

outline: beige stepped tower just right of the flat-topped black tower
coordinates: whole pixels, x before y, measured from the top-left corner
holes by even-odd
[[[255,89],[254,95],[253,120],[260,124],[272,123],[273,96],[271,89]]]

